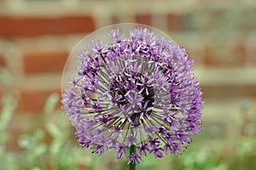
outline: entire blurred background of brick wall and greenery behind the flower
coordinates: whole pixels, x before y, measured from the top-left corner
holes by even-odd
[[[254,0],[0,0],[0,169],[125,169],[113,152],[79,148],[60,103],[75,44],[122,22],[186,48],[205,102],[183,156],[148,156],[138,169],[256,169]]]

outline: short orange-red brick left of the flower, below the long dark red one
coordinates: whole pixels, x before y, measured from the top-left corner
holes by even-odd
[[[67,57],[67,52],[25,54],[23,57],[24,71],[26,73],[61,72]]]

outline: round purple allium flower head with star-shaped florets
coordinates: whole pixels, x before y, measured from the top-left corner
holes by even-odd
[[[90,42],[79,54],[78,76],[63,92],[63,109],[83,148],[102,155],[117,150],[139,164],[177,155],[201,129],[201,89],[184,48],[148,28],[109,32],[111,41]]]

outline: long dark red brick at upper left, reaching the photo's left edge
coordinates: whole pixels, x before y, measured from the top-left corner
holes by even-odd
[[[47,34],[82,33],[95,30],[91,16],[67,16],[55,18],[0,17],[0,36],[34,37]]]

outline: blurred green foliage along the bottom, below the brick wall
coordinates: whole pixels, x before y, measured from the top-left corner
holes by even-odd
[[[43,126],[34,129],[32,133],[20,134],[20,150],[11,151],[7,147],[12,140],[8,127],[17,103],[12,96],[3,96],[0,115],[0,169],[127,169],[125,158],[117,160],[113,150],[103,156],[95,156],[90,154],[90,150],[80,149],[64,112],[55,109],[59,100],[57,94],[49,96],[42,111]],[[256,124],[247,114],[248,111],[249,105],[245,102],[241,106],[241,114],[234,119],[234,127],[237,127],[236,140],[212,141],[201,138],[200,135],[203,134],[200,134],[182,156],[168,155],[164,159],[154,159],[154,156],[149,155],[143,157],[137,169],[256,169]]]

